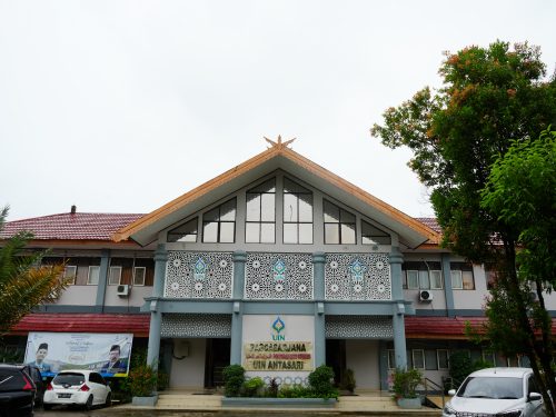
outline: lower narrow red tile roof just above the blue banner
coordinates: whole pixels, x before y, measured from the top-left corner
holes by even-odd
[[[136,337],[148,337],[149,325],[150,314],[32,312],[23,317],[11,334],[27,335],[29,331],[131,332]]]

